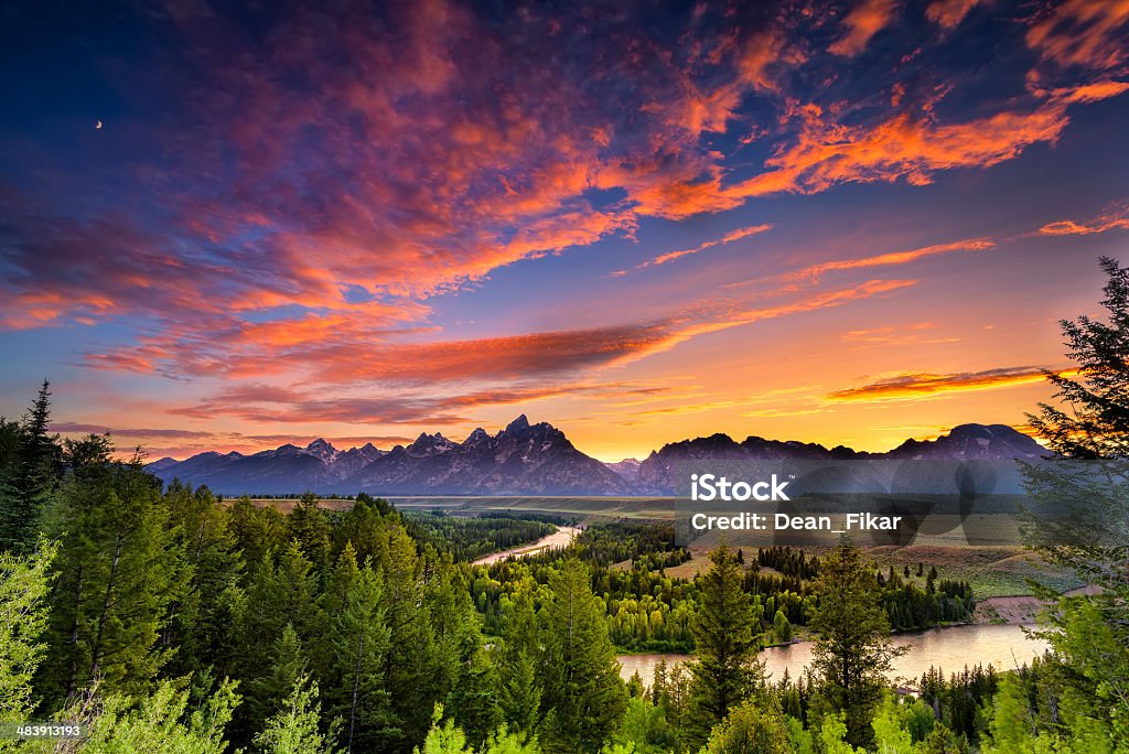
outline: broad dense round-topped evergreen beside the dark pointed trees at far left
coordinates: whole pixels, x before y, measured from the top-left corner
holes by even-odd
[[[90,463],[68,477],[47,527],[61,545],[38,686],[55,704],[96,680],[142,692],[172,652],[157,642],[186,576],[159,480],[140,456]]]

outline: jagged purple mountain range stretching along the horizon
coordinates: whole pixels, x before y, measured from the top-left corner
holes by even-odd
[[[339,450],[324,439],[283,445],[252,455],[201,453],[185,461],[160,458],[148,471],[207,484],[222,494],[671,494],[675,466],[684,461],[811,459],[1032,459],[1048,455],[1033,439],[1005,424],[961,424],[936,440],[905,440],[886,453],[826,448],[813,442],[749,437],[742,442],[711,435],[663,446],[639,462],[604,464],[578,450],[546,422],[523,414],[496,435],[479,428],[462,442],[421,433],[408,446],[380,450],[371,442]]]

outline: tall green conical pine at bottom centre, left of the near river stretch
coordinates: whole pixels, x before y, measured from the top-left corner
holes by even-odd
[[[550,576],[549,588],[543,608],[544,748],[597,752],[627,705],[615,647],[579,560],[564,560]]]

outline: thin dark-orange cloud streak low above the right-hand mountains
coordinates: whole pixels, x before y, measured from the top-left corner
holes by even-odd
[[[1073,376],[1077,370],[1059,372]],[[917,372],[899,375],[860,387],[837,391],[828,395],[831,401],[848,403],[884,403],[891,401],[921,401],[944,397],[953,393],[987,391],[1017,385],[1031,385],[1047,379],[1038,367],[1003,367],[983,371],[957,374]]]

